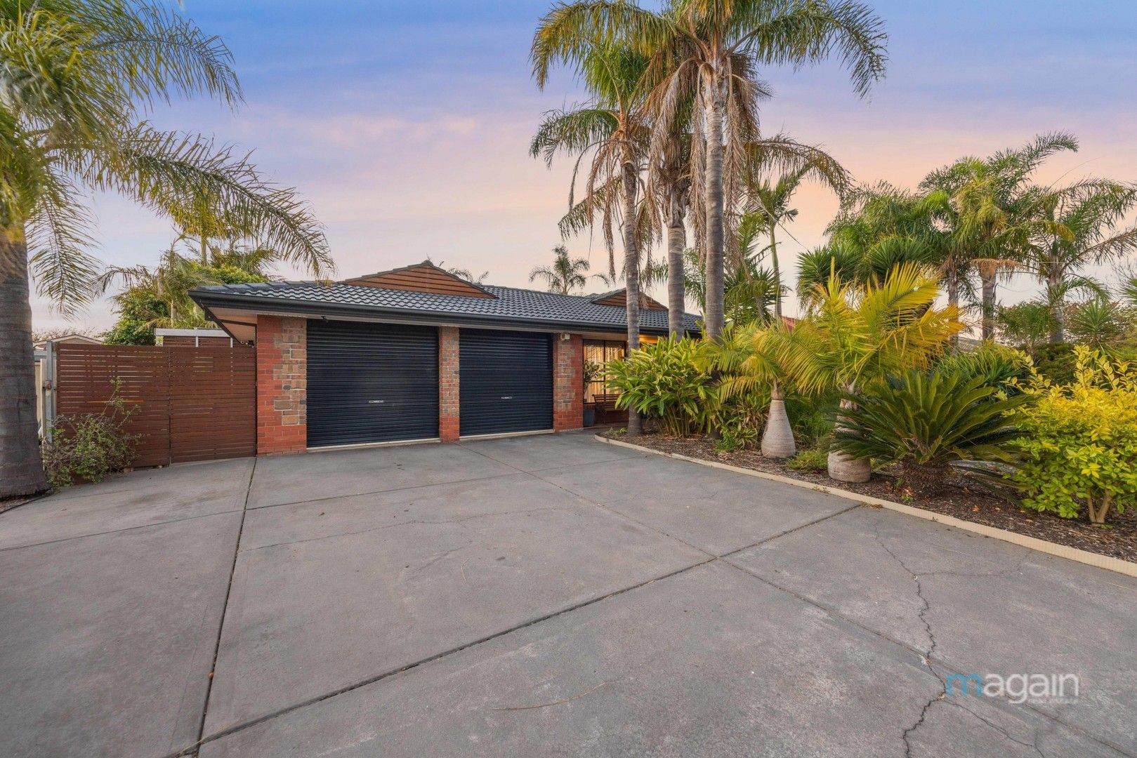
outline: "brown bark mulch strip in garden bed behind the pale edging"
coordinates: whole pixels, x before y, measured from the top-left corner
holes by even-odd
[[[608,432],[608,435],[623,440],[622,430],[620,432]],[[631,440],[628,441],[631,442]],[[1002,498],[979,491],[973,485],[969,486],[968,480],[957,476],[948,478],[947,486],[941,494],[928,498],[915,495],[911,490],[899,488],[897,477],[887,469],[873,473],[872,480],[864,484],[850,484],[835,482],[824,473],[794,470],[772,458],[763,458],[757,450],[719,452],[714,449],[714,443],[706,438],[645,434],[636,439],[634,443],[663,452],[678,452],[690,458],[715,460],[823,486],[836,486],[858,494],[903,502],[913,508],[954,516],[961,520],[985,524],[1088,552],[1137,561],[1137,508],[1127,509],[1123,514],[1111,511],[1106,516],[1106,524],[1097,526],[1090,524],[1085,517],[1081,519],[1062,518],[1054,514],[1028,510]]]

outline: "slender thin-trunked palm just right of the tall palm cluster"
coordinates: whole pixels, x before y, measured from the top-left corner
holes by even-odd
[[[782,319],[782,281],[781,266],[778,260],[778,227],[786,228],[786,225],[797,217],[797,209],[790,208],[790,201],[802,182],[811,176],[815,176],[838,195],[848,186],[848,173],[840,164],[820,150],[806,165],[797,170],[782,174],[775,182],[771,182],[769,178],[748,177],[749,181],[746,183],[750,210],[744,214],[741,225],[745,225],[748,218],[754,218],[762,233],[770,241],[766,249],[770,251],[770,267],[773,272],[774,320],[779,322]]]

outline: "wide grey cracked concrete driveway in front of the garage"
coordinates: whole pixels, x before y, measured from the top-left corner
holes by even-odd
[[[588,434],[139,472],[0,576],[3,756],[1137,753],[1137,581]]]

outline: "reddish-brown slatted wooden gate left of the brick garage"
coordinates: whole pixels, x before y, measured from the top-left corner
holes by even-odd
[[[56,345],[57,416],[99,413],[117,380],[139,435],[135,466],[257,452],[252,348]]]

